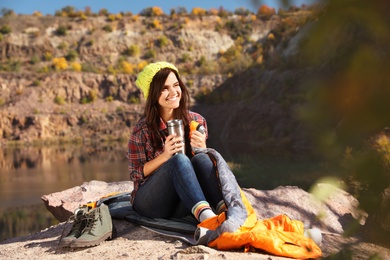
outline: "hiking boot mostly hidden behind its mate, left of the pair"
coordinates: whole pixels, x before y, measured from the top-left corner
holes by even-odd
[[[87,206],[82,206],[79,207],[75,210],[74,215],[72,215],[69,220],[73,220],[73,225],[71,230],[69,231],[68,235],[66,237],[61,236],[59,245],[62,247],[67,247],[72,243],[73,240],[77,239],[78,237],[81,236],[83,233],[83,230],[86,226],[86,219],[85,219],[85,214],[88,212],[88,207]],[[66,224],[65,224],[66,226]],[[64,231],[65,231],[65,226],[64,226]]]

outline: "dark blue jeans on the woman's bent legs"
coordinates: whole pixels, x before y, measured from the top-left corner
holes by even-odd
[[[191,215],[199,201],[215,208],[222,199],[216,169],[207,154],[191,160],[176,154],[139,187],[133,208],[150,218],[183,217]]]

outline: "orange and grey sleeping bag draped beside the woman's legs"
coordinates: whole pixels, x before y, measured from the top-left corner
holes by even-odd
[[[207,245],[219,250],[251,247],[277,256],[308,259],[319,258],[321,249],[305,237],[301,221],[291,220],[286,215],[259,220],[255,210],[238,186],[233,173],[223,158],[212,149],[206,153],[214,161],[227,211],[209,218],[198,227],[211,232]]]

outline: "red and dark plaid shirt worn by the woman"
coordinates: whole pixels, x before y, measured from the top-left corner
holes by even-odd
[[[203,125],[206,129],[206,138],[208,136],[206,119],[198,113],[189,111],[189,121],[197,121]],[[168,136],[168,129],[165,122],[160,119],[160,134],[162,136],[162,143],[165,143],[165,139]],[[189,138],[189,137],[186,137]],[[164,152],[164,147],[155,150],[152,145],[151,133],[146,125],[145,118],[142,118],[134,126],[128,143],[127,159],[129,162],[128,170],[130,174],[130,180],[134,183],[134,189],[132,192],[132,202],[134,201],[135,194],[138,187],[142,185],[148,177],[144,176],[145,163],[153,160],[158,155]]]

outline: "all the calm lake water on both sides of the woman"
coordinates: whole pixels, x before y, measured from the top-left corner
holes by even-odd
[[[125,153],[126,143],[0,149],[0,241],[58,224],[43,205],[42,195],[91,180],[129,180]],[[308,189],[328,174],[308,157],[229,154],[225,158],[238,183],[247,188]]]

